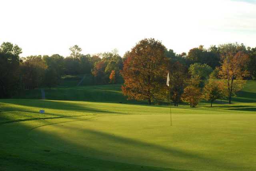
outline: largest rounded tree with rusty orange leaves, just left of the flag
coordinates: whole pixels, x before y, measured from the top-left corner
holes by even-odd
[[[128,99],[147,100],[151,104],[153,99],[164,97],[168,61],[165,50],[160,41],[152,38],[141,40],[131,49],[121,73],[122,92]]]

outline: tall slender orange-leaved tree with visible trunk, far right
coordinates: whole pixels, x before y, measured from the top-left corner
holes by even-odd
[[[246,65],[248,64],[249,57],[245,53],[246,49],[243,44],[238,45],[237,43],[229,43],[220,45],[221,50],[221,67],[220,77],[226,79],[228,89],[228,102],[231,104],[234,87],[244,77],[249,75],[246,71]]]

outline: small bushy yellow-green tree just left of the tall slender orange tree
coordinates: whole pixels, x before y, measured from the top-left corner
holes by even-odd
[[[203,88],[202,98],[210,100],[211,107],[214,100],[224,96],[224,86],[221,81],[209,80]]]

